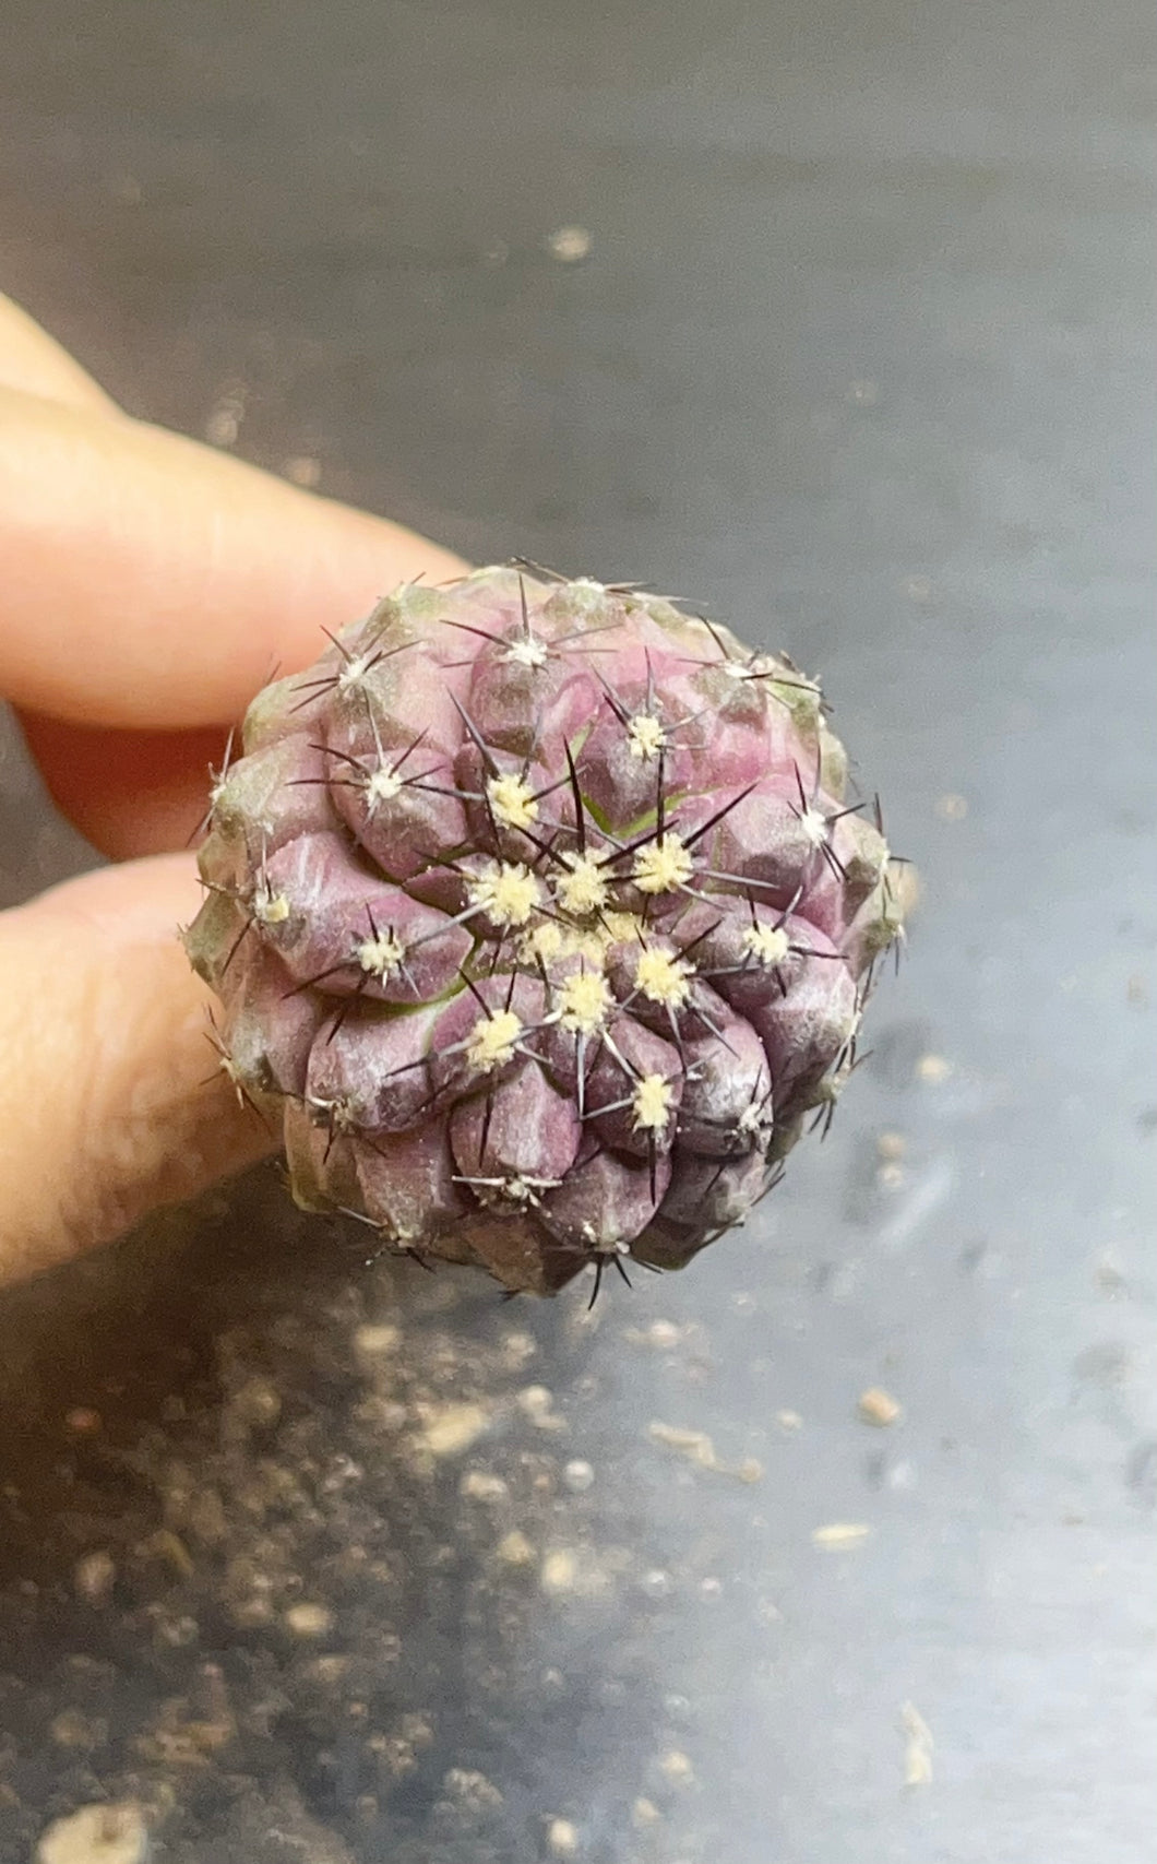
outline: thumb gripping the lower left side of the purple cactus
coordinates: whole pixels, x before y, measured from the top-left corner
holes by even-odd
[[[192,856],[158,856],[0,913],[0,1282],[274,1148],[214,1070],[197,904]]]

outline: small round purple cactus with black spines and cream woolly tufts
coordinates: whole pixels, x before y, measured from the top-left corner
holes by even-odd
[[[401,587],[266,686],[190,958],[307,1210],[551,1294],[775,1182],[902,932],[820,688],[633,585]]]

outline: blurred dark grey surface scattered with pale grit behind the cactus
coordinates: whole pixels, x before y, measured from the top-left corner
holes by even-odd
[[[924,904],[831,1139],[592,1314],[270,1169],[4,1297],[0,1858],[1151,1858],[1151,7],[4,13],[2,289],[788,647]],[[88,861],[7,731],[4,898]]]

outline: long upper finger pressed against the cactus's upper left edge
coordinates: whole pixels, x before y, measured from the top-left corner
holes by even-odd
[[[0,390],[0,692],[88,725],[216,725],[399,582],[466,565],[181,434]]]

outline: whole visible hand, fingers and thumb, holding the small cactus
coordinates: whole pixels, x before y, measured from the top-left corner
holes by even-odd
[[[270,1150],[205,1040],[177,926],[209,764],[272,675],[427,539],[123,414],[0,296],[0,695],[114,867],[0,913],[0,1282],[119,1236]]]

